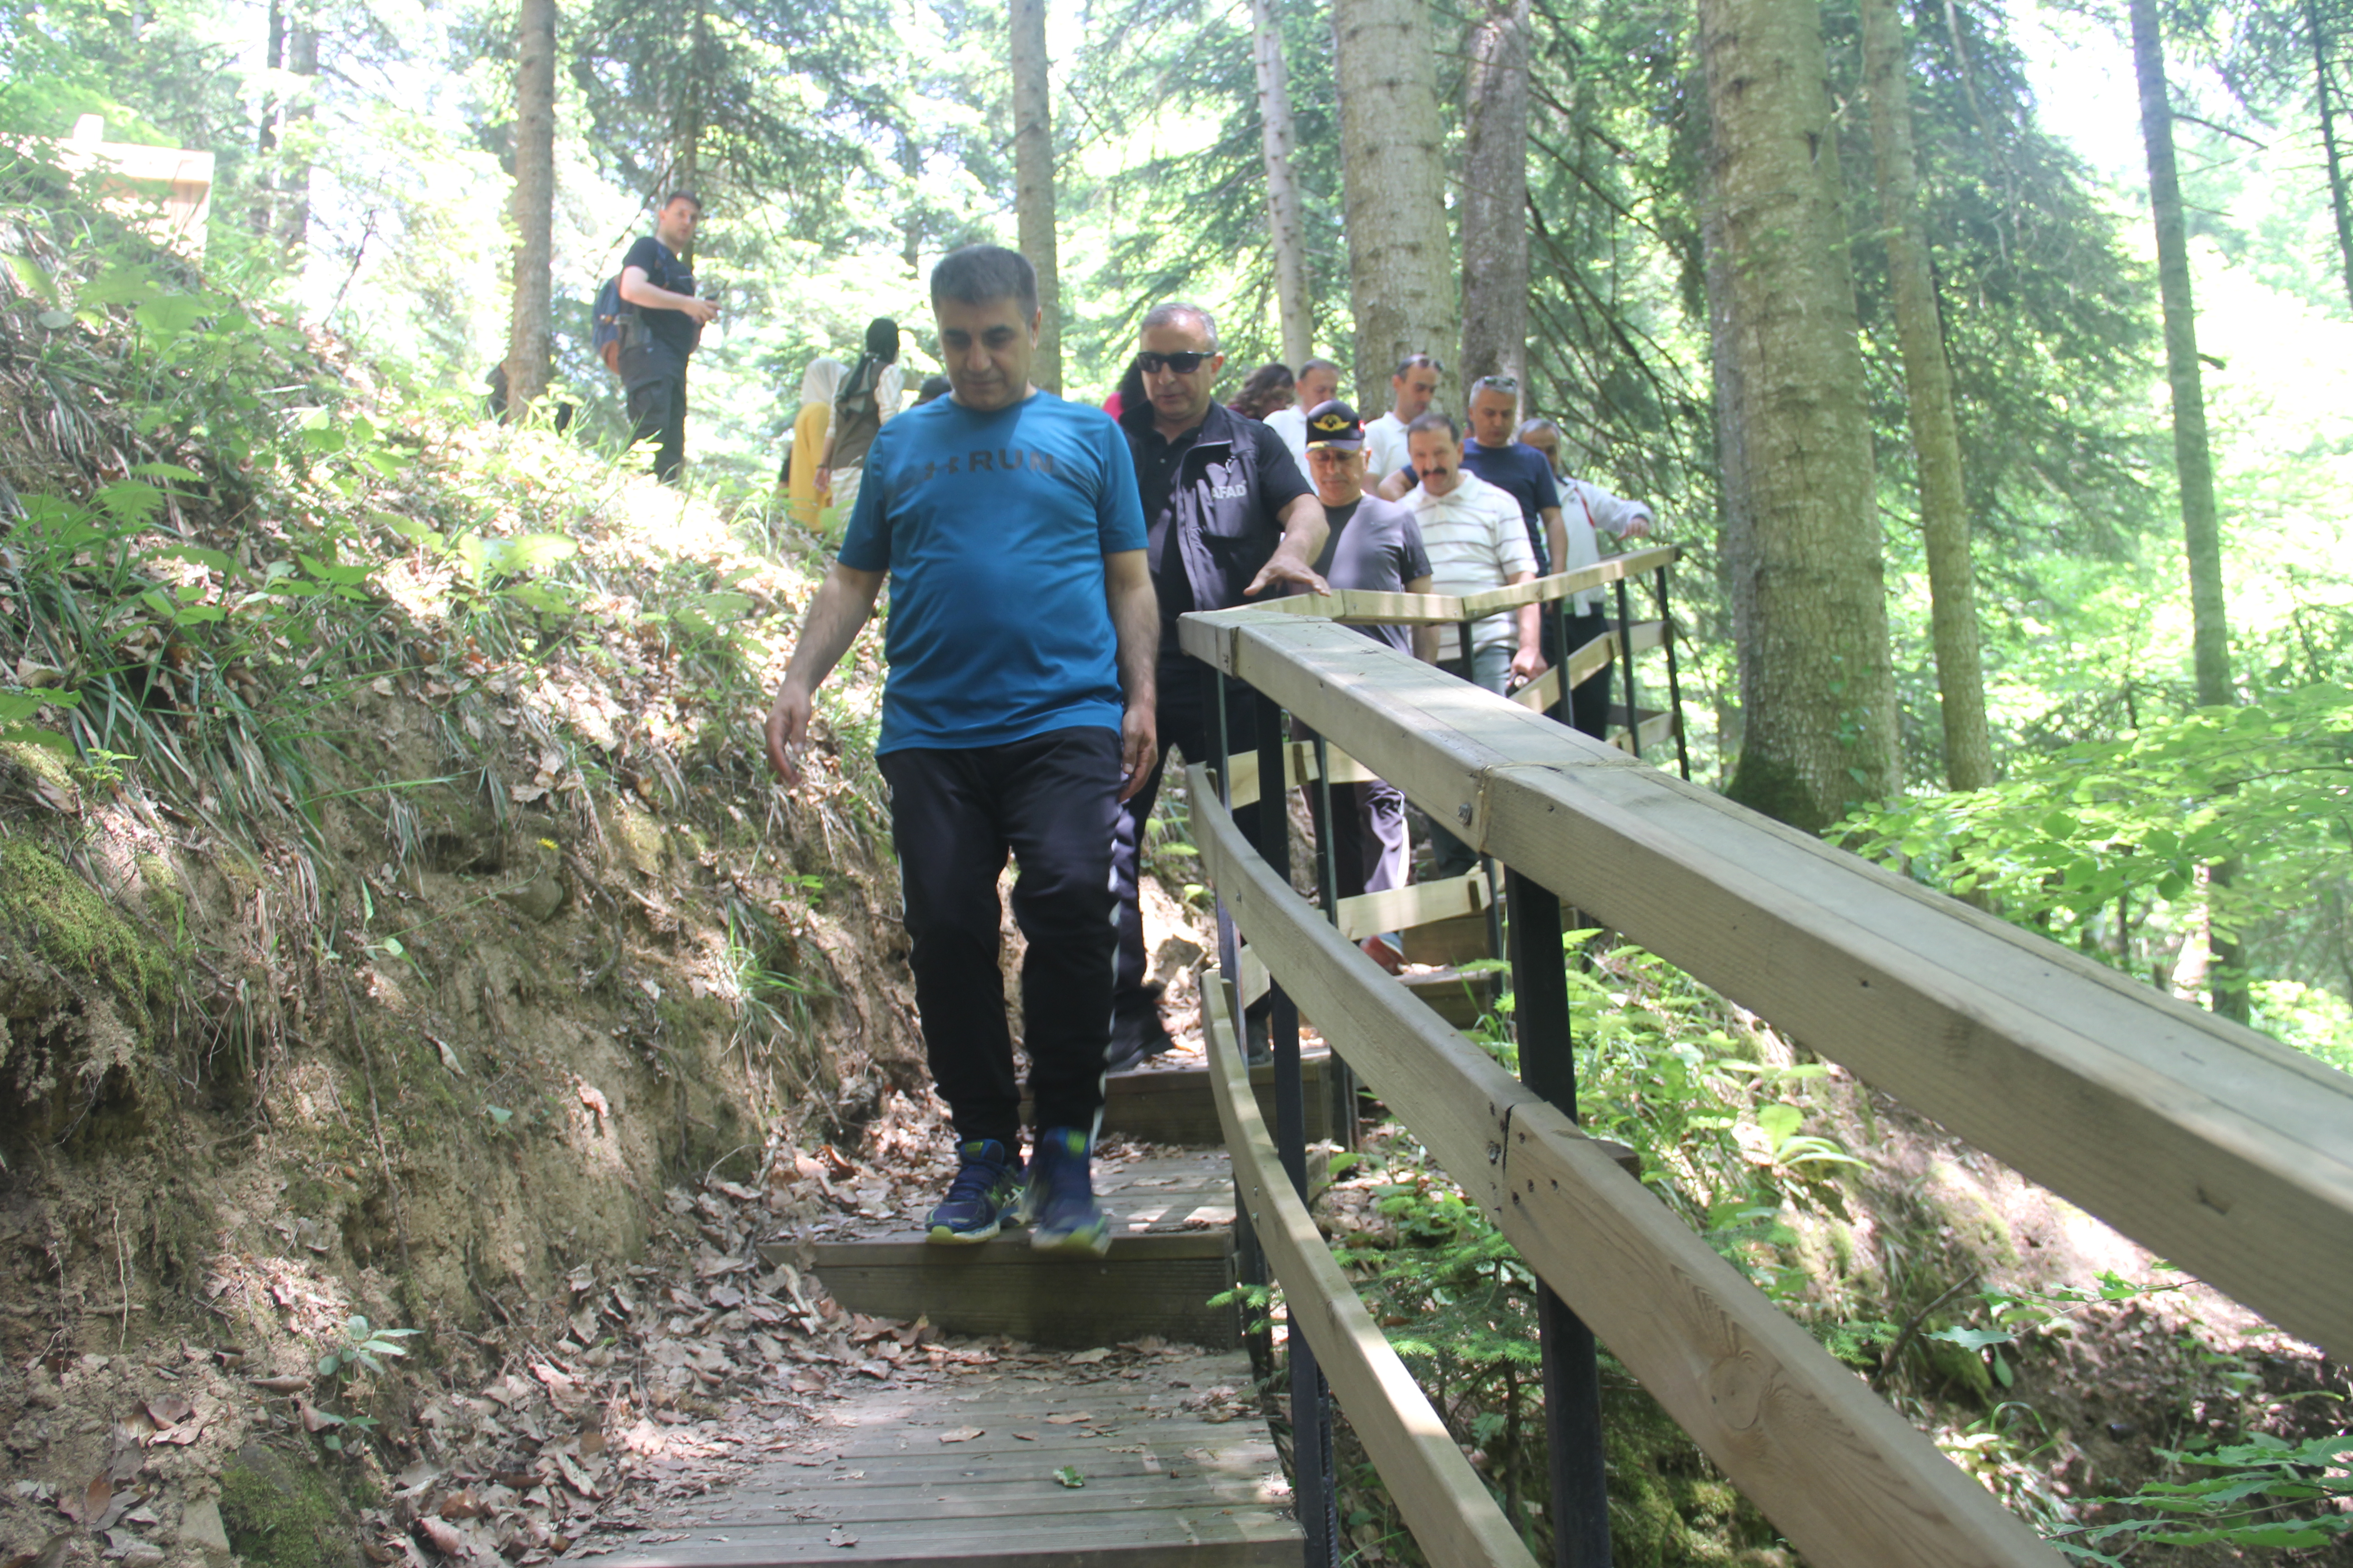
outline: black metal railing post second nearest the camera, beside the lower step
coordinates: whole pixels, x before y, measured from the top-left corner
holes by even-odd
[[[1259,696],[1259,853],[1282,882],[1292,879],[1292,813],[1282,790],[1282,708]],[[1313,1201],[1308,1187],[1308,1105],[1299,1072],[1299,1004],[1268,973],[1268,1034],[1275,1051],[1275,1150],[1292,1178],[1299,1201]],[[1240,1013],[1235,1013],[1240,1016]],[[1249,1037],[1249,1023],[1242,1023]],[[1294,1307],[1297,1309],[1297,1307]],[[1292,1469],[1299,1497],[1299,1526],[1306,1530],[1308,1568],[1329,1568],[1339,1549],[1339,1507],[1332,1495],[1332,1394],[1325,1387],[1315,1352],[1304,1333],[1287,1338],[1292,1354]]]

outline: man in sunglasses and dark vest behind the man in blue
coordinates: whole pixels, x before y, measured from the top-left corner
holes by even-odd
[[[1111,999],[1111,1070],[1167,1051],[1160,997],[1146,985],[1144,910],[1136,882],[1144,823],[1160,797],[1169,748],[1188,762],[1214,755],[1214,672],[1186,658],[1176,618],[1191,609],[1231,609],[1261,592],[1306,588],[1325,592],[1315,557],[1325,543],[1325,512],[1282,437],[1242,418],[1212,397],[1226,355],[1217,353],[1217,320],[1200,306],[1167,301],[1144,315],[1136,343],[1144,400],[1120,407],[1120,430],[1136,465],[1153,588],[1160,595],[1158,726],[1160,757],[1120,804],[1111,844],[1111,879],[1120,896],[1120,969]],[[1252,693],[1231,686],[1226,701],[1231,750],[1257,745]],[[1280,799],[1280,795],[1278,795]],[[1235,811],[1249,832],[1257,809]]]

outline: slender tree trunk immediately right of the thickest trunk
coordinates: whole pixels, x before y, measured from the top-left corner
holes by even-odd
[[[1904,348],[1906,414],[1920,465],[1920,534],[1927,550],[1929,642],[1944,710],[1944,776],[1955,790],[1993,783],[1986,731],[1986,668],[1977,632],[1977,576],[1969,567],[1969,503],[1960,484],[1960,423],[1944,320],[1927,273],[1920,226],[1920,169],[1911,141],[1911,59],[1897,0],[1861,0],[1864,85],[1871,96],[1871,150],[1880,181],[1880,230],[1897,341]]]

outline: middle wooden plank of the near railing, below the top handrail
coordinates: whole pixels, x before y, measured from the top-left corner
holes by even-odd
[[[1325,1039],[1807,1561],[2059,1566],[1605,1150],[1315,919],[1231,816],[1195,806],[1193,839]],[[1602,1248],[1624,1255],[1602,1267]]]

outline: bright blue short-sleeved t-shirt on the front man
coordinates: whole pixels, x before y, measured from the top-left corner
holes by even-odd
[[[1118,729],[1104,557],[1141,548],[1134,461],[1101,409],[939,397],[882,425],[840,555],[892,578],[875,750]]]

